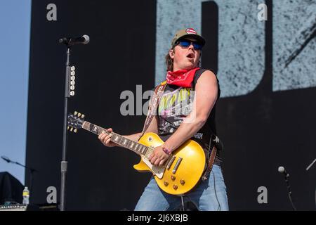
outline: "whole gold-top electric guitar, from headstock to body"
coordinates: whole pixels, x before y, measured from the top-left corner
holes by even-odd
[[[68,115],[67,123],[70,131],[74,132],[84,128],[93,134],[99,135],[103,131],[109,133],[102,127],[84,121],[84,115],[77,112]],[[157,134],[145,133],[135,142],[112,132],[111,141],[140,155],[141,160],[138,165],[134,165],[134,169],[138,172],[152,172],[158,186],[171,195],[182,195],[190,191],[204,172],[205,153],[196,141],[188,140],[183,143],[162,166],[152,165],[148,160],[154,148],[164,143]]]

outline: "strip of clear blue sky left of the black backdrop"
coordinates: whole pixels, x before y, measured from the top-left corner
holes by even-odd
[[[0,155],[25,165],[31,0],[0,0]],[[0,159],[24,184],[25,170]]]

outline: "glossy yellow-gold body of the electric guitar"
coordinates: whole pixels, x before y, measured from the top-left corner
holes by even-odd
[[[146,133],[138,141],[144,146],[162,146],[164,141],[157,134]],[[143,156],[134,169],[152,172],[159,188],[171,195],[182,195],[192,190],[199,182],[205,168],[205,153],[196,141],[188,140],[171,155],[174,160],[166,169],[152,166]],[[160,170],[159,170],[160,169]]]

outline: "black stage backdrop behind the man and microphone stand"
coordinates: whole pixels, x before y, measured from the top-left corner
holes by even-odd
[[[46,19],[51,3],[58,7],[57,21]],[[267,5],[272,8],[271,1]],[[87,46],[72,49],[76,95],[70,98],[70,112],[77,110],[101,127],[131,134],[143,128],[145,116],[121,115],[120,94],[136,94],[137,84],[143,91],[154,87],[156,11],[157,2],[147,0],[32,1],[27,165],[39,170],[34,174],[32,203],[46,203],[50,186],[57,188],[60,200],[66,48],[58,39],[82,34],[91,38]],[[213,44],[204,49],[202,63],[217,70],[216,6],[203,3],[203,11],[202,34]],[[315,209],[316,169],[305,172],[316,157],[315,95],[315,88],[272,91],[269,13],[261,83],[246,96],[220,98],[216,109],[218,135],[225,144],[223,174],[230,210],[291,210],[279,165],[291,174],[298,210]],[[84,130],[68,137],[67,210],[133,210],[150,179],[150,174],[133,169],[138,155],[105,148],[96,135]],[[266,204],[257,200],[261,186],[268,190]]]

